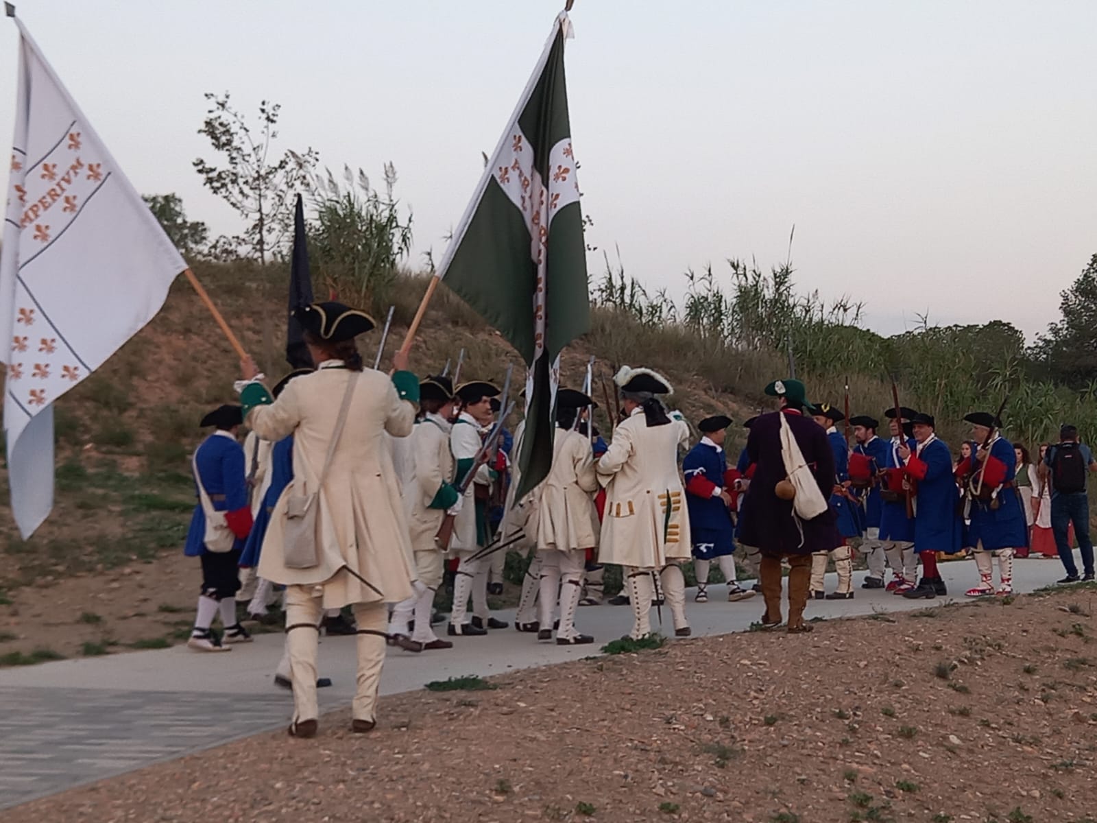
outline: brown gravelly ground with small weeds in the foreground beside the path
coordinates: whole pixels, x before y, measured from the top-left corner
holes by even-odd
[[[4,812],[41,821],[1089,821],[1094,590],[730,634],[382,700]],[[211,718],[216,722],[216,718]]]

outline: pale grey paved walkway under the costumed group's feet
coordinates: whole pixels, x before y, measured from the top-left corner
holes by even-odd
[[[977,578],[974,563],[943,563],[940,570],[950,591],[947,598],[906,600],[862,589],[864,573],[859,572],[853,600],[812,600],[807,616],[834,619],[963,600],[963,591]],[[1062,576],[1058,561],[1017,561],[1014,585],[1019,593],[1031,591]],[[834,585],[830,574],[828,590]],[[687,593],[694,635],[746,631],[761,616],[760,597],[727,602],[723,586],[710,586],[709,593],[704,605],[692,601],[692,589]],[[663,631],[672,634],[670,616],[663,611]],[[513,612],[495,613],[513,620]],[[654,611],[652,618],[654,622]],[[532,635],[507,629],[486,638],[457,638],[450,651],[391,650],[381,691],[393,695],[446,677],[489,676],[598,654],[602,644],[629,632],[632,610],[581,608],[577,625],[595,635],[596,645],[538,643]],[[263,634],[227,654],[176,646],[0,669],[0,809],[285,725],[292,699],[272,684],[281,654],[282,635]],[[320,673],[335,681],[319,692],[321,711],[349,704],[353,638],[321,640]]]

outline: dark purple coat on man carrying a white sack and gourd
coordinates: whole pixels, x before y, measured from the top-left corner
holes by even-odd
[[[773,492],[778,481],[785,476],[781,459],[780,414],[788,417],[792,436],[812,467],[823,498],[829,498],[834,491],[834,453],[826,431],[802,415],[781,412],[761,415],[750,427],[747,438],[747,453],[757,469],[750,481],[750,492],[743,498],[739,540],[746,545],[758,546],[762,554],[769,556],[829,551],[841,545],[834,509],[828,507],[813,520],[800,521],[803,529],[801,535],[798,521],[792,517],[792,501],[782,500]]]

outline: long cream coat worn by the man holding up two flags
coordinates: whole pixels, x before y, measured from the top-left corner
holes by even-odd
[[[271,515],[259,575],[286,585],[323,585],[325,608],[399,602],[411,596],[416,575],[385,432],[394,437],[411,433],[415,406],[402,401],[381,372],[352,372],[332,365],[341,363],[329,361],[316,372],[296,377],[272,405],[259,406],[248,415],[248,425],[264,440],[294,436],[294,478]],[[282,537],[286,499],[302,486],[306,494],[316,489],[347,381],[352,377],[358,384],[346,427],[319,489],[320,563],[307,570],[286,568]]]

